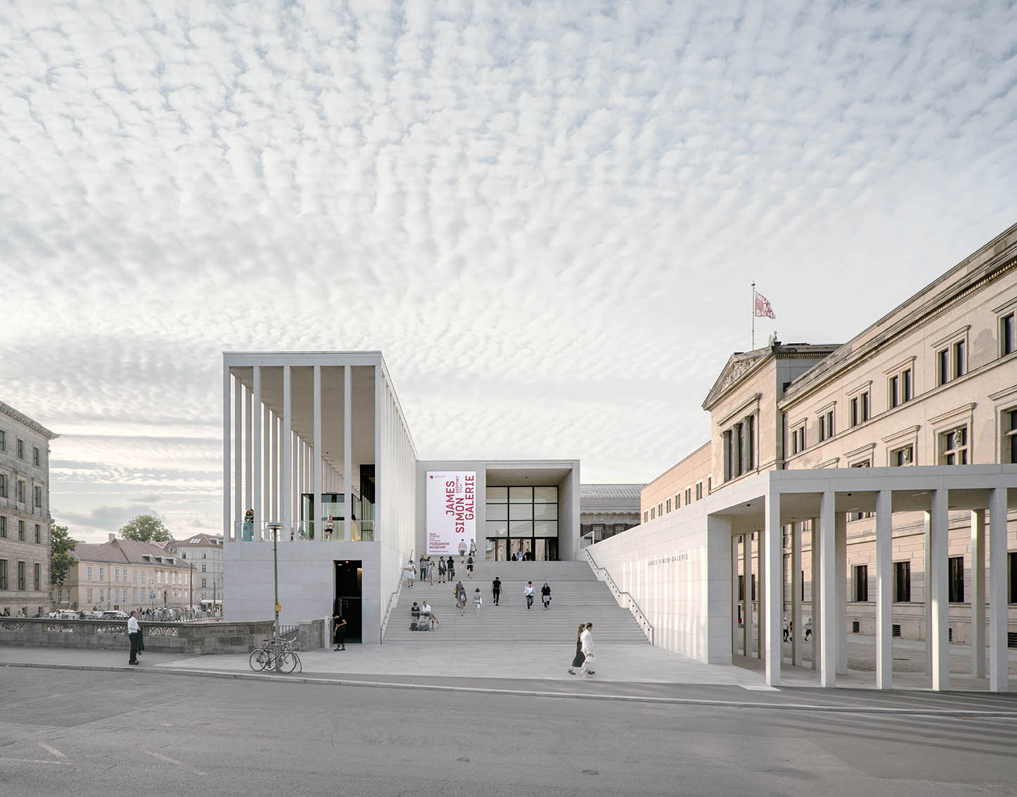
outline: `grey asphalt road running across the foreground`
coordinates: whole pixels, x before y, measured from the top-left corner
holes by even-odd
[[[749,709],[5,668],[0,794],[1017,793],[1017,712],[789,711],[781,695]],[[985,706],[936,700],[952,704]]]

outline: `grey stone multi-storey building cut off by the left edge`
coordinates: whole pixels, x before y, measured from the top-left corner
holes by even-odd
[[[0,402],[0,613],[50,604],[50,440],[42,424]]]

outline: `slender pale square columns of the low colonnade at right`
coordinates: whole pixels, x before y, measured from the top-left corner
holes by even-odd
[[[930,491],[925,538],[925,616],[926,664],[932,686],[946,690],[950,686],[949,660],[949,490]],[[991,691],[1006,691],[1007,676],[1007,489],[989,490],[989,567],[995,577],[989,581],[989,678]],[[736,535],[731,545],[732,602],[739,601],[737,589],[738,559],[744,574],[740,596],[742,626],[732,622],[732,651],[738,648],[750,655],[752,641],[753,543],[758,555],[757,575],[760,632],[756,656],[765,660],[766,681],[780,684],[783,661],[782,620],[784,617],[785,527],[780,523],[780,493],[766,496],[765,528],[761,534]],[[893,602],[894,565],[893,491],[876,493],[876,685],[893,685]],[[836,493],[820,494],[819,516],[811,522],[786,527],[791,555],[791,663],[800,666],[803,639],[801,629],[802,586],[801,535],[805,525],[812,529],[812,666],[819,670],[820,684],[836,685],[837,675],[847,672],[847,520],[835,509]],[[971,674],[985,676],[985,509],[971,510]],[[736,612],[735,612],[736,614]]]

